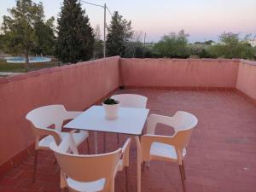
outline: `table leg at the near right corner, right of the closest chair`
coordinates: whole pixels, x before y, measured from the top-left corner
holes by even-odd
[[[137,192],[141,192],[142,190],[142,183],[141,183],[141,177],[142,177],[142,162],[141,162],[141,143],[139,137],[134,137],[136,144],[137,144]]]

